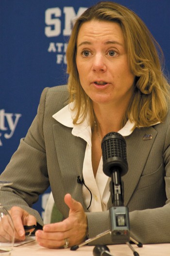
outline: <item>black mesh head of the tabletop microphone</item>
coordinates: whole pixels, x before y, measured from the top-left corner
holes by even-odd
[[[102,139],[103,172],[112,175],[113,167],[121,170],[121,175],[127,173],[126,141],[119,133],[111,132]]]

